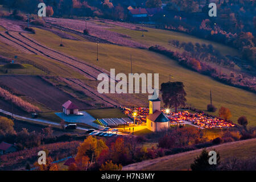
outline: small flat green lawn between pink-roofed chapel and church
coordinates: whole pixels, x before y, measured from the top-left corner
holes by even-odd
[[[88,109],[88,114],[96,119],[102,118],[126,118],[127,116],[119,109]]]

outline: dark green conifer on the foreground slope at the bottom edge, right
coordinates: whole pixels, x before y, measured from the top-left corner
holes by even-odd
[[[197,156],[197,158],[194,160],[194,163],[191,164],[190,167],[192,171],[215,171],[217,169],[218,164],[220,164],[220,154],[217,152],[217,165],[209,164],[210,155],[208,154],[209,152],[204,148],[200,156]]]

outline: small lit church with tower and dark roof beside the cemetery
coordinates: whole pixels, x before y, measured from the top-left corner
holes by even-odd
[[[161,101],[159,98],[155,100],[149,100],[150,108],[149,115],[147,115],[147,129],[151,131],[160,131],[162,129],[168,129],[169,121],[161,111]]]

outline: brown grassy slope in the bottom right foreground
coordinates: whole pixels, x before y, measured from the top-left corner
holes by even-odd
[[[208,147],[220,152],[221,161],[235,156],[237,159],[246,159],[254,156],[256,152],[256,139],[242,140]],[[190,164],[196,156],[200,155],[202,149],[183,152],[180,154],[164,156],[158,159],[146,160],[140,163],[130,164],[123,167],[123,171],[180,171],[189,170]]]

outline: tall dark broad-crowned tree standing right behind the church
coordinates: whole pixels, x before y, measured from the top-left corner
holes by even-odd
[[[185,106],[187,93],[184,90],[183,82],[166,82],[161,84],[162,99],[165,107]]]

